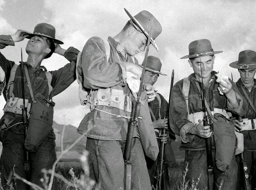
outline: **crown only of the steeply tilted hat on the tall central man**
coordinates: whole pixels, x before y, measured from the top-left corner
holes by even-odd
[[[152,34],[151,37],[153,40],[161,34],[162,27],[159,21],[148,11],[140,11],[138,14],[134,16],[135,19],[138,20],[140,25],[145,29],[145,31],[149,34],[151,25],[152,25]]]

